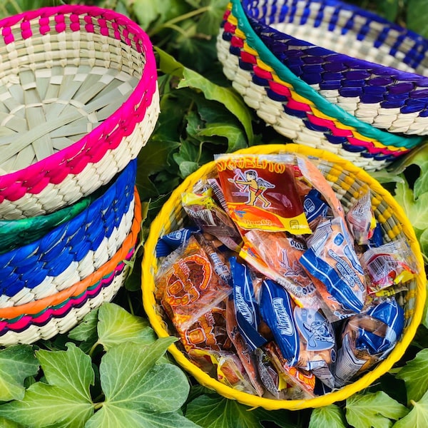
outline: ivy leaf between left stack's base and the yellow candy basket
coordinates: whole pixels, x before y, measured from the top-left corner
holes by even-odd
[[[150,345],[156,335],[148,320],[131,315],[114,303],[103,303],[98,310],[98,343],[104,350],[123,342]]]

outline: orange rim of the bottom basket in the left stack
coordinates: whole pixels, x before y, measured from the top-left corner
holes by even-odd
[[[43,297],[33,302],[25,303],[24,305],[2,307],[0,308],[0,319],[14,319],[20,315],[36,315],[46,307],[61,304],[64,300],[70,297],[76,297],[84,292],[88,287],[93,285],[111,274],[114,267],[119,265],[121,262],[126,260],[126,256],[131,249],[136,245],[138,236],[141,230],[142,212],[141,212],[141,199],[138,194],[136,186],[134,186],[134,218],[131,226],[131,230],[128,233],[126,239],[123,241],[121,248],[116,252],[113,257],[98,268],[95,272],[87,277],[83,278],[79,282],[71,285],[64,290],[56,292],[54,295]]]

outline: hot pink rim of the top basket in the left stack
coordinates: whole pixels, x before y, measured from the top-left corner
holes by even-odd
[[[115,131],[116,128],[118,128],[118,124],[123,125],[123,118],[132,118],[136,116],[138,109],[143,109],[144,118],[149,108],[156,108],[156,106],[153,106],[153,103],[151,103],[153,95],[157,90],[158,76],[156,58],[153,54],[153,46],[148,34],[146,34],[138,24],[127,16],[98,6],[64,4],[61,6],[46,6],[33,11],[24,11],[21,14],[8,16],[0,20],[0,29],[4,31],[4,29],[9,26],[16,25],[20,21],[29,21],[30,19],[36,19],[38,17],[40,19],[46,17],[49,18],[51,16],[58,16],[61,14],[84,14],[93,18],[96,16],[102,16],[104,19],[115,19],[120,21],[123,26],[126,26],[127,31],[132,31],[131,34],[133,34],[134,40],[138,36],[142,41],[141,54],[144,55],[146,60],[143,73],[136,87],[133,88],[133,91],[130,93],[126,101],[119,106],[111,116],[108,116],[108,118],[96,126],[96,128],[93,128],[90,133],[87,133],[86,136],[75,143],[72,143],[70,146],[51,154],[50,156],[28,165],[26,168],[21,168],[20,170],[0,175],[0,193],[2,188],[7,188],[13,183],[25,183],[28,176],[37,175],[37,173],[49,173],[49,170],[53,169],[58,164],[67,162],[69,158],[73,158],[76,154],[84,156],[86,151],[88,151],[88,148],[99,145],[99,141],[103,141],[106,136]],[[55,26],[53,26],[53,29],[51,28],[51,31],[56,31]],[[70,29],[64,29],[63,31],[70,31]],[[111,36],[106,37],[113,39]],[[23,39],[25,38],[23,37]],[[7,44],[5,41],[1,41],[1,43]],[[141,120],[143,120],[143,118]],[[138,123],[138,121],[136,121],[136,123]],[[132,128],[135,128],[136,123],[132,123]],[[130,131],[132,131],[132,129],[128,127],[126,132],[130,133]],[[45,187],[47,184],[48,182],[45,183]],[[40,190],[41,189],[38,189],[38,191]]]

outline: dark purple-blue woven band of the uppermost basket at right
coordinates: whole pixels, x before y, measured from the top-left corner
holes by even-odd
[[[259,6],[259,3],[262,6]],[[272,12],[273,7],[267,7],[267,4],[275,4],[275,15],[267,16],[269,11]],[[328,8],[327,8],[328,6]],[[382,86],[382,95],[377,92],[376,95],[372,95],[371,90],[362,92],[361,101],[363,103],[380,103],[382,108],[400,108],[402,113],[420,112],[420,116],[427,116],[428,109],[428,97],[419,98],[419,102],[408,103],[410,93],[414,91],[418,86],[428,87],[428,78],[420,76],[416,73],[409,73],[400,71],[396,68],[382,66],[382,64],[371,63],[369,61],[360,60],[358,58],[351,58],[343,54],[337,54],[329,49],[319,47],[315,53],[311,49],[305,49],[308,44],[306,41],[295,39],[288,34],[282,34],[267,24],[280,23],[280,22],[295,22],[296,24],[312,25],[314,27],[320,26],[324,23],[328,26],[328,29],[332,31],[337,29],[337,21],[341,14],[345,16],[344,11],[352,15],[347,18],[345,24],[342,25],[341,32],[346,34],[348,31],[352,31],[352,34],[356,35],[356,39],[363,41],[366,39],[367,34],[370,37],[367,38],[370,44],[375,48],[380,46],[387,46],[389,54],[397,56],[400,52],[404,54],[404,58],[400,59],[402,63],[406,63],[412,68],[417,68],[422,61],[426,58],[428,51],[428,41],[422,38],[418,34],[412,31],[402,29],[401,27],[390,23],[389,21],[382,19],[381,17],[364,11],[355,6],[344,4],[341,1],[334,0],[312,0],[312,1],[251,1],[243,0],[243,8],[245,13],[248,15],[248,20],[253,26],[256,34],[260,36],[260,39],[271,49],[272,54],[277,56],[285,66],[290,68],[290,71],[296,76],[301,78],[303,81],[310,85],[319,84],[320,89],[335,89],[338,90],[344,86],[344,82],[347,81],[345,76],[340,78],[332,78],[327,71],[331,68],[340,68],[343,64],[347,66],[348,70],[351,69],[365,69],[369,72],[362,84],[356,82],[357,87],[370,86],[372,85],[371,80],[378,78],[379,76],[391,76],[392,81]],[[328,9],[328,13],[327,13]],[[278,12],[280,11],[280,12]],[[261,15],[262,12],[265,15]],[[311,19],[309,19],[311,17]],[[376,24],[376,26],[374,26]],[[379,25],[383,26],[379,30]],[[374,38],[374,40],[372,40]],[[275,39],[277,43],[275,46],[269,43]],[[391,40],[394,42],[392,46],[385,45],[384,43],[388,40],[391,44]],[[300,56],[297,59],[295,51],[300,50]],[[292,62],[290,62],[290,56]],[[307,68],[307,57],[317,56],[320,59],[323,70],[320,72],[320,76],[314,76],[314,72]],[[299,62],[300,61],[300,62]],[[342,70],[341,70],[342,71]],[[409,89],[408,93],[402,93],[401,96],[397,96],[397,93],[393,93],[392,90],[396,82],[408,81],[412,82],[412,88]],[[379,85],[379,87],[381,87]],[[341,93],[342,96],[355,96],[355,91]],[[411,98],[411,97],[410,97]]]

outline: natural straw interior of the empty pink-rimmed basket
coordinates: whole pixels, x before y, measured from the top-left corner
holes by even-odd
[[[123,29],[113,37],[108,21],[100,26],[93,19],[85,31],[88,16],[62,17],[63,27],[52,17],[49,31],[39,18],[25,21],[31,37],[21,23],[6,27],[14,41],[0,45],[0,173],[26,168],[86,136],[143,75],[146,58]]]

